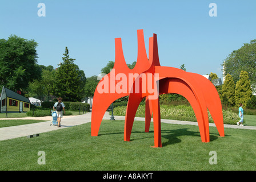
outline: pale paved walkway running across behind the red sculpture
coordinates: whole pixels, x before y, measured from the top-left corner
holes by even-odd
[[[124,120],[124,116],[114,116],[115,119]],[[3,118],[7,119],[7,118]],[[52,117],[40,117],[40,118],[8,118],[8,119],[41,119],[41,120],[49,120],[45,122],[33,123],[28,125],[19,125],[19,126],[10,126],[10,127],[2,127],[0,128],[0,140],[7,140],[18,137],[26,137],[29,135],[45,133],[47,131],[60,130],[65,129],[71,126],[82,125],[83,123],[91,122],[91,112],[75,115],[75,116],[64,116],[61,119],[61,127],[50,126]],[[106,112],[103,119],[110,119],[109,112]],[[135,117],[135,121],[145,121],[145,118]],[[153,119],[151,119],[153,121]],[[170,119],[161,119],[161,122],[171,123],[171,124],[179,124],[179,125],[197,125],[197,122],[189,122],[189,121],[175,121]],[[214,123],[209,123],[209,126],[214,126]],[[237,125],[224,125],[224,127],[234,128],[234,129],[250,129],[256,130],[256,126],[237,126]]]

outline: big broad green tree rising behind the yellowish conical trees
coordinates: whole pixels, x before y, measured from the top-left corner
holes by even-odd
[[[256,39],[251,40],[250,43],[245,43],[243,46],[233,51],[223,61],[223,72],[226,76],[229,73],[234,82],[239,80],[241,71],[248,73],[251,85],[256,86]]]

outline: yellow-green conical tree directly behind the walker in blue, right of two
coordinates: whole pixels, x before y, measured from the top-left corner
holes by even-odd
[[[235,85],[235,105],[238,106],[240,103],[246,107],[247,101],[252,97],[251,84],[248,73],[241,71],[239,80]]]

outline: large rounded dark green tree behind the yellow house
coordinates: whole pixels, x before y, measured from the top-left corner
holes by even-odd
[[[41,77],[37,42],[11,35],[0,40],[0,86],[25,92],[29,82]]]

